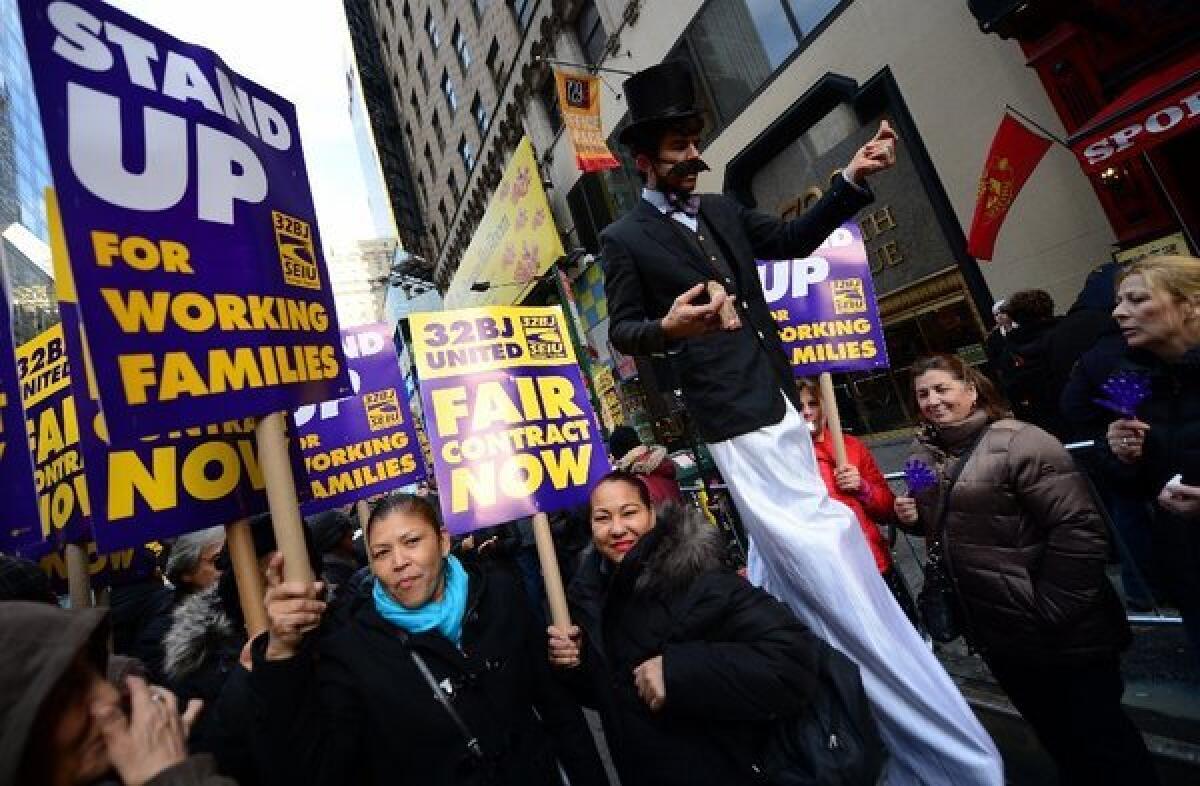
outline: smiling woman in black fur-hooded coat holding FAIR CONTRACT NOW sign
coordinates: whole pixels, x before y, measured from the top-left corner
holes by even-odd
[[[571,583],[576,626],[551,662],[595,707],[624,786],[754,784],[774,719],[815,684],[812,635],[724,564],[719,533],[614,472],[592,491],[594,552]],[[742,763],[739,763],[742,762]]]

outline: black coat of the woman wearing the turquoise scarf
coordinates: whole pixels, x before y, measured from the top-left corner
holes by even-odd
[[[517,580],[474,565],[467,575],[461,650],[436,632],[404,634],[370,595],[349,624],[288,660],[266,660],[266,636],[254,641],[256,740],[275,762],[272,782],[557,786],[557,754],[575,786],[607,784],[578,704],[550,673],[545,632]],[[409,647],[449,690],[487,764],[467,752]]]

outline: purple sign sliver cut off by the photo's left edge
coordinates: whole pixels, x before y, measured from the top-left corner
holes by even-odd
[[[43,536],[34,463],[25,434],[25,412],[17,382],[10,302],[0,268],[0,499],[5,504],[0,552],[17,554],[41,542]]]

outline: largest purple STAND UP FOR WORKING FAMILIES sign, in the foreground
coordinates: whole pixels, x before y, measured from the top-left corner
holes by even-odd
[[[293,106],[100,0],[19,7],[114,437],[349,394]]]

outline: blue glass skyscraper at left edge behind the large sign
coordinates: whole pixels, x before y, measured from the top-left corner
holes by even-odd
[[[17,0],[0,0],[0,258],[17,343],[58,322],[42,197],[50,182]]]

